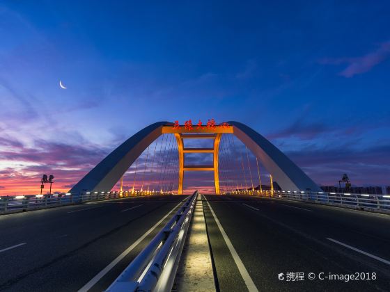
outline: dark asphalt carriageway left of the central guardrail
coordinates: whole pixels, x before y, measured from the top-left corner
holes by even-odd
[[[0,216],[0,291],[77,291],[187,196],[134,197]],[[103,291],[157,228],[91,291]]]

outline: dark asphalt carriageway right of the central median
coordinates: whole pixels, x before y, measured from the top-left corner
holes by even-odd
[[[250,196],[203,201],[220,291],[247,291],[251,282],[258,291],[390,291],[390,216]],[[329,280],[329,273],[376,279]]]

